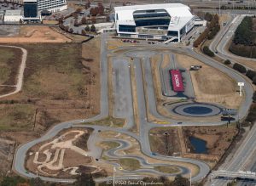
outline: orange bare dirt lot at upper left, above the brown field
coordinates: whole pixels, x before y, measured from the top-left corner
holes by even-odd
[[[71,42],[71,40],[48,26],[21,26],[20,33],[15,37],[1,37],[1,43],[26,42]]]

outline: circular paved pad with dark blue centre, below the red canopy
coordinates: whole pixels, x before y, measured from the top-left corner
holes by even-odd
[[[207,117],[216,116],[222,109],[213,104],[181,104],[173,109],[173,112],[182,116]]]

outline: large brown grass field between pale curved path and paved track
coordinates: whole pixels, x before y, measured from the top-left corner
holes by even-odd
[[[98,94],[93,93],[93,87],[99,83],[99,76],[98,69],[91,70],[91,66],[97,66],[99,61],[84,62],[81,44],[41,43],[21,47],[28,51],[24,86],[20,93],[0,99],[0,128],[31,131],[35,120],[37,131],[60,121],[95,115],[90,107],[90,94]]]

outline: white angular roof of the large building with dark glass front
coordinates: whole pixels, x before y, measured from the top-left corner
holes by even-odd
[[[161,4],[143,4],[115,7],[115,14],[118,14],[118,25],[135,25],[133,13],[137,10],[165,9],[171,16],[169,29],[180,30],[194,15],[191,14],[190,8],[182,3],[161,3]]]

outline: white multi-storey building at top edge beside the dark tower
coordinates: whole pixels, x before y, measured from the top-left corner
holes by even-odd
[[[38,0],[38,11],[48,10],[50,12],[59,12],[67,9],[66,0]]]

